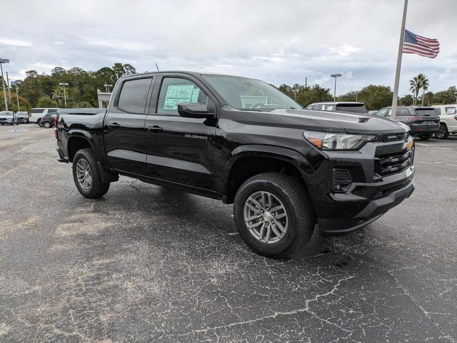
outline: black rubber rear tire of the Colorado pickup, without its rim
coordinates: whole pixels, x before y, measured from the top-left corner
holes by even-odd
[[[92,183],[89,189],[84,189],[76,176],[76,164],[80,159],[85,159],[91,170]],[[81,149],[76,152],[75,157],[73,158],[73,180],[81,195],[89,199],[100,198],[105,195],[109,189],[109,182],[101,182],[100,172],[97,167],[97,159],[95,158],[92,149]]]

